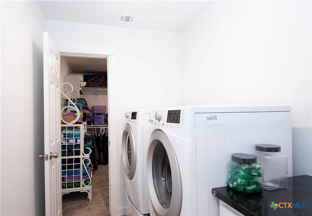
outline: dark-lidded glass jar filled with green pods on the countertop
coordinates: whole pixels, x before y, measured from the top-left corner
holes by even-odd
[[[250,154],[234,153],[232,161],[227,162],[227,185],[242,194],[262,191],[262,165],[257,157]]]

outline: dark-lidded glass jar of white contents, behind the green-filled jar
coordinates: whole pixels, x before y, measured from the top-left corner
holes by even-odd
[[[287,155],[282,154],[281,146],[256,144],[254,154],[263,165],[264,189],[276,190],[287,187]]]

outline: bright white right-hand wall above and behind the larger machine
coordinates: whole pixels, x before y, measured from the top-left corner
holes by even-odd
[[[183,104],[292,106],[293,175],[312,175],[311,1],[215,1],[181,32]]]

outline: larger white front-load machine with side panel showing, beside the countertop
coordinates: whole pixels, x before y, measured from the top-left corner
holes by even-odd
[[[219,215],[212,188],[226,162],[255,144],[278,144],[292,176],[289,106],[196,106],[150,111],[147,181],[151,216]]]

